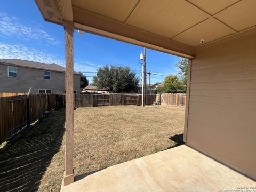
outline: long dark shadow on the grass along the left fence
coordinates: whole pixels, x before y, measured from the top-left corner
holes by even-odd
[[[38,189],[65,133],[65,110],[53,111],[0,149],[0,191]]]

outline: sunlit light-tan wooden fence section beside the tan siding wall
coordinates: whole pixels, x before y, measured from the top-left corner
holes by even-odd
[[[186,93],[157,94],[156,102],[173,106],[186,106]]]

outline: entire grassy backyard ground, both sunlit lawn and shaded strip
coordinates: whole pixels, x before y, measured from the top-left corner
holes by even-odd
[[[183,143],[184,107],[77,108],[74,170],[93,171]],[[0,149],[0,189],[59,191],[65,165],[65,111],[53,111]]]

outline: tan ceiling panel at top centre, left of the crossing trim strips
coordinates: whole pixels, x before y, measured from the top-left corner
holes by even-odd
[[[141,0],[126,24],[172,38],[205,19],[206,13],[186,1]]]

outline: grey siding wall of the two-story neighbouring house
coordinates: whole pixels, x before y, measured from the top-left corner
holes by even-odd
[[[7,66],[0,63],[0,92],[38,93],[39,89],[49,89],[52,93],[65,91],[65,73],[51,71],[51,79],[44,80],[44,70],[17,66],[18,76],[8,77]],[[14,66],[16,67],[16,66]],[[74,74],[74,90],[80,92],[80,76]]]

